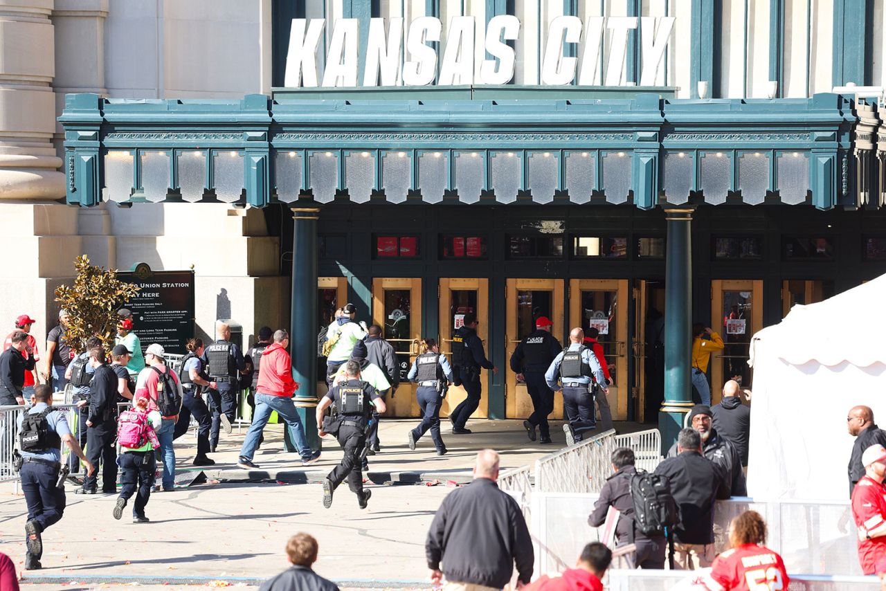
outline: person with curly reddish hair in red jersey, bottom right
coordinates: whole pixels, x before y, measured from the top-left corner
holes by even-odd
[[[729,524],[732,547],[714,559],[704,585],[711,591],[781,591],[790,579],[784,562],[766,548],[766,522],[757,511],[745,511]]]

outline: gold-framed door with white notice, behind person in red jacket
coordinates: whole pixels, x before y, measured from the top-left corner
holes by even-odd
[[[569,282],[570,327],[600,330],[597,340],[613,380],[607,400],[615,421],[627,420],[627,293],[627,279]]]

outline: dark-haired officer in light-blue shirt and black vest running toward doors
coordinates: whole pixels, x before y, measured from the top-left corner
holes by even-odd
[[[416,398],[422,409],[422,422],[408,432],[409,449],[415,449],[416,441],[430,429],[437,455],[445,455],[446,446],[440,437],[440,405],[446,396],[446,382],[452,381],[452,368],[446,355],[439,354],[437,341],[433,338],[425,338],[418,350],[419,355],[412,362],[408,378],[418,385]]]

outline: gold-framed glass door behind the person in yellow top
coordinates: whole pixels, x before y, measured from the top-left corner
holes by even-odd
[[[724,348],[711,355],[711,404],[719,403],[723,384],[737,379],[750,388],[750,338],[763,328],[763,282],[755,279],[711,282],[711,329]]]

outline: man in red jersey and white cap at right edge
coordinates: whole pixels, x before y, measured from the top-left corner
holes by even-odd
[[[859,563],[865,574],[874,574],[886,556],[886,447],[879,443],[861,455],[865,475],[852,490],[852,517],[859,528]]]

